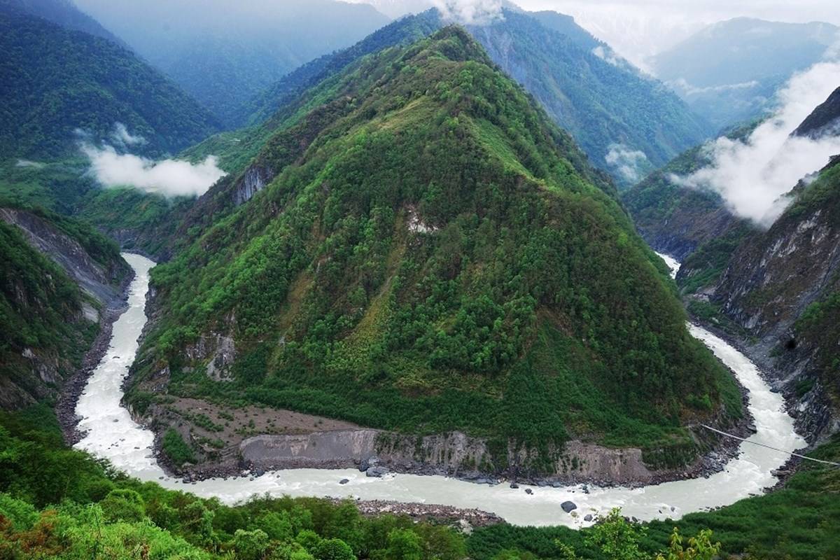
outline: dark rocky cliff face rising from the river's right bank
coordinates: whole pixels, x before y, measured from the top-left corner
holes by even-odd
[[[840,429],[838,164],[799,186],[773,227],[742,243],[711,293],[711,301],[758,340],[754,353],[797,402],[800,427],[813,440]]]

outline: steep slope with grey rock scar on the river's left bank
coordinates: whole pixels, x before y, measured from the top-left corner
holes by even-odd
[[[0,408],[55,400],[128,274],[89,226],[0,202]]]

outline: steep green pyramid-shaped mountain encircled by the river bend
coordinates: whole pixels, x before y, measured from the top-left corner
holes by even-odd
[[[572,438],[680,463],[685,422],[740,414],[612,185],[465,31],[312,99],[155,268],[135,411],[197,397],[459,430],[484,468],[546,474]]]

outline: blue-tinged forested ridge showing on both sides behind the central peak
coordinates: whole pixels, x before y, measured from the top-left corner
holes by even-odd
[[[357,61],[361,56],[428,35],[443,25],[437,10],[403,18],[354,47],[302,66],[256,97],[252,124],[259,124],[299,93]],[[470,27],[493,61],[530,92],[568,130],[593,165],[609,170],[622,185],[654,165],[664,165],[698,144],[711,128],[658,81],[640,74],[609,45],[581,29],[573,18],[554,12],[505,10],[503,21]],[[213,148],[252,150],[264,130],[235,133]],[[253,141],[253,137],[260,141]],[[246,148],[231,145],[243,141]],[[227,143],[228,146],[224,144]],[[200,150],[204,153],[204,150]],[[224,158],[223,158],[224,159]]]

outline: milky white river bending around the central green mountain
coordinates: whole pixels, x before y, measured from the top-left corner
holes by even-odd
[[[622,507],[623,514],[640,520],[678,518],[692,511],[732,504],[749,495],[760,494],[776,478],[770,472],[787,459],[765,447],[743,443],[738,458],[726,468],[704,479],[691,479],[647,486],[638,489],[589,487],[586,494],[580,485],[564,488],[511,489],[472,484],[441,476],[390,474],[382,479],[367,478],[355,469],[282,470],[256,479],[208,479],[185,484],[165,475],[152,455],[154,436],[129,416],[120,400],[123,379],[129,372],[138,349],[138,338],[146,322],[144,303],[149,289],[149,271],[154,263],[135,254],[123,254],[136,276],[129,288],[129,308],[114,323],[113,338],[102,362],[92,373],[81,395],[76,413],[81,416],[81,432],[86,436],[76,444],[113,466],[138,479],[154,481],[171,489],[181,489],[203,497],[218,497],[228,504],[246,500],[251,495],[269,493],[291,496],[354,496],[362,500],[396,500],[427,504],[478,508],[495,512],[515,525],[585,526],[587,513],[606,513]],[[675,261],[672,266],[676,266]],[[749,441],[761,442],[794,451],[805,441],[785,413],[781,395],[772,393],[758,369],[742,353],[721,338],[701,327],[690,326],[691,333],[727,364],[749,391],[749,409],[758,432]],[[348,484],[339,480],[349,479]],[[565,513],[560,504],[571,500],[578,505],[576,515]]]

